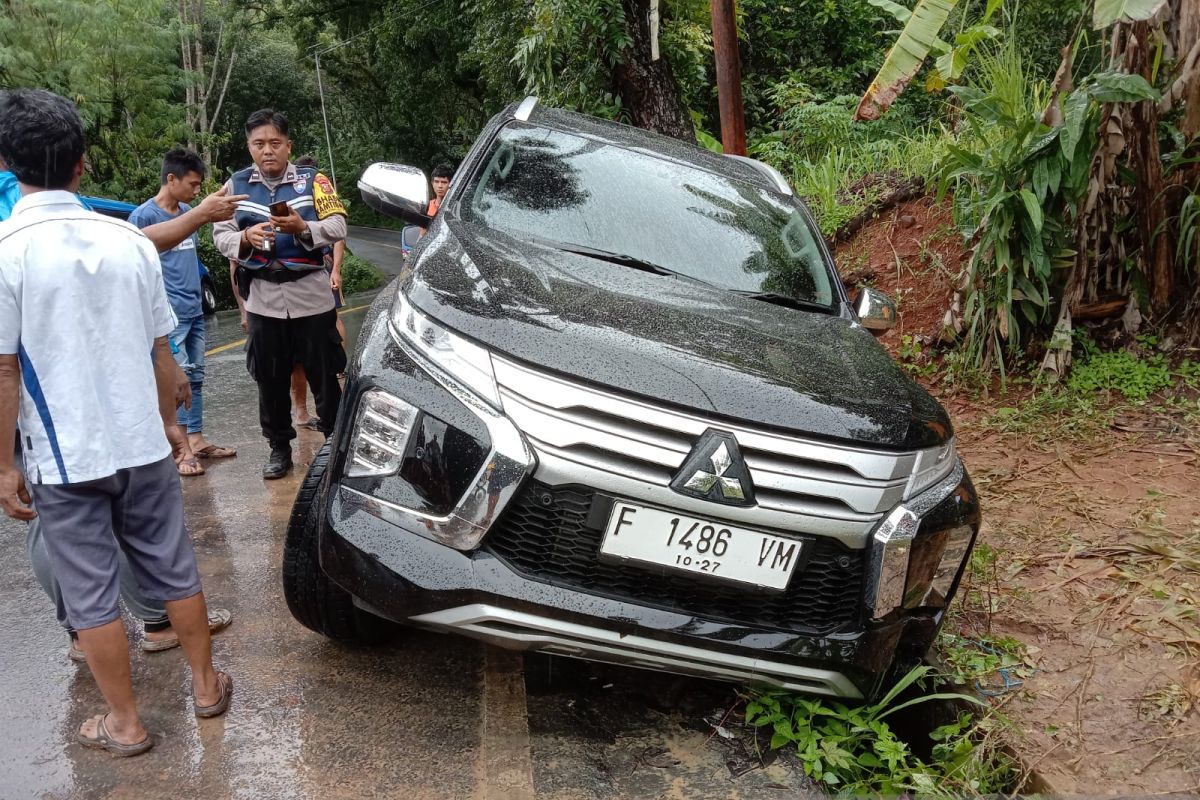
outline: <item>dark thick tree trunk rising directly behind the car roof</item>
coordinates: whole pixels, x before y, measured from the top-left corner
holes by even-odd
[[[612,71],[622,106],[638,127],[695,142],[696,128],[683,106],[671,65],[666,59],[655,61],[650,54],[649,0],[623,0],[623,6],[631,42]]]

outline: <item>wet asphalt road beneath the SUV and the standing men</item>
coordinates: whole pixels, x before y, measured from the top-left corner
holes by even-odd
[[[344,315],[352,338],[362,314]],[[73,744],[103,703],[86,666],[66,657],[67,637],[29,569],[23,524],[0,518],[0,798],[802,793],[803,777],[782,760],[734,776],[748,751],[704,721],[728,710],[731,686],[409,630],[388,645],[355,649],[295,622],[280,585],[281,551],[320,438],[301,432],[292,476],[259,479],[266,446],[241,331],[229,314],[212,321],[205,427],[239,455],[209,462],[206,475],[185,479],[184,492],[205,593],[234,614],[214,638],[217,663],[236,682],[233,706],[222,718],[197,720],[182,654],[143,652],[140,625],[127,619],[134,686],[157,745],[125,760]]]

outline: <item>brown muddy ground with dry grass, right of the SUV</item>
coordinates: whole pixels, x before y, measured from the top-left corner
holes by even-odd
[[[949,627],[1025,644],[1037,672],[989,686],[1056,793],[1200,792],[1195,433],[1048,447],[960,422],[996,559]]]

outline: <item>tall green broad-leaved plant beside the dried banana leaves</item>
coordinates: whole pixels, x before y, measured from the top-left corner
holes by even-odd
[[[950,89],[965,133],[948,148],[940,192],[974,242],[964,303],[971,366],[996,368],[1021,345],[1022,330],[1049,321],[1075,253],[1074,219],[1088,181],[1100,103],[1154,97],[1140,77],[1099,73],[1062,97],[1061,125],[1042,112],[1050,89],[1026,68],[1015,36],[980,59],[974,85]]]

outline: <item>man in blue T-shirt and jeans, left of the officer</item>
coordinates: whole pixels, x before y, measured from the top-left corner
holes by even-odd
[[[188,211],[200,191],[206,169],[204,161],[192,150],[178,148],[162,160],[162,185],[158,193],[130,215],[138,228],[168,222]],[[175,247],[160,251],[162,278],[167,299],[179,319],[179,327],[170,333],[178,348],[175,360],[187,373],[192,385],[192,408],[179,410],[179,425],[186,426],[190,452],[176,458],[180,475],[203,475],[204,468],[196,459],[229,458],[236,452],[204,439],[204,311],[200,305],[200,265],[197,255],[197,235],[192,234]]]

